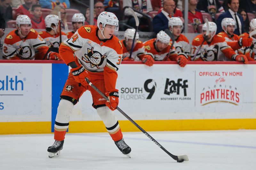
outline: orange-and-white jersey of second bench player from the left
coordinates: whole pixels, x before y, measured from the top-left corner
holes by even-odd
[[[48,47],[55,47],[55,48],[60,47],[60,45],[59,45],[60,33],[51,35],[47,31],[40,31],[38,34],[45,40]],[[64,32],[61,32],[61,41],[63,42],[64,40],[67,40],[67,39],[68,39],[67,34]]]

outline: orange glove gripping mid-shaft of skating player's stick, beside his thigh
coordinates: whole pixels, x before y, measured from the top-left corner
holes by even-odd
[[[105,92],[105,95],[108,97],[108,101],[106,101],[106,106],[111,110],[116,110],[118,106],[119,100],[119,93],[117,89],[110,90],[109,92]]]

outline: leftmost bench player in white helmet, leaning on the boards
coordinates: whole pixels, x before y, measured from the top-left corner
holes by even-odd
[[[42,60],[44,55],[50,59],[55,53],[47,53],[49,49],[44,39],[31,29],[31,20],[27,15],[16,18],[17,29],[11,31],[4,39],[4,58],[9,60]],[[38,51],[35,54],[35,51]]]

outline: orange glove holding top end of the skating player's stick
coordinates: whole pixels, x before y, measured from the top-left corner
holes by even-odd
[[[83,86],[87,86],[88,83],[85,81],[85,78],[91,79],[89,73],[84,69],[80,64],[78,67],[70,70],[73,74],[74,79],[77,83],[81,83]]]

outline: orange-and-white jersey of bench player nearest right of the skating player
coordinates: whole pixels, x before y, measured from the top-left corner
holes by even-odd
[[[130,57],[130,50],[127,50],[125,40],[121,40],[121,43],[123,46],[123,59],[125,57]],[[138,41],[133,48],[131,58],[134,59],[134,61],[141,61],[144,55],[146,55],[144,44],[143,42]]]

